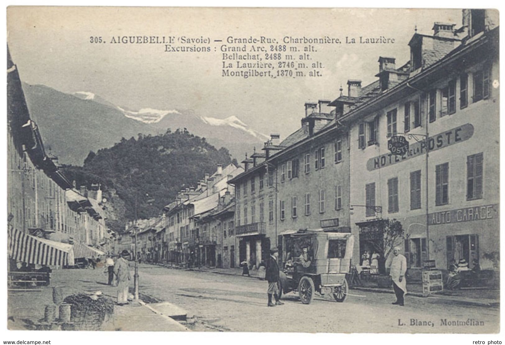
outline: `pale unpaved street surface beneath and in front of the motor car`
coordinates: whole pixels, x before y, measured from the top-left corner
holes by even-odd
[[[283,306],[268,308],[267,282],[256,278],[140,265],[140,291],[171,302],[188,313],[196,331],[291,332],[495,332],[499,309],[451,305],[443,300],[407,296],[406,306],[391,305],[394,295],[359,290],[343,303],[316,297],[303,305],[298,295],[282,297]],[[441,319],[474,319],[484,326],[441,326]],[[398,326],[398,319],[405,326]],[[411,319],[433,326],[410,326]]]

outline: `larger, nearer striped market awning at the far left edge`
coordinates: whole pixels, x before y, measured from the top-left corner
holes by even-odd
[[[49,241],[9,229],[9,256],[28,264],[66,266],[74,265],[72,245]]]

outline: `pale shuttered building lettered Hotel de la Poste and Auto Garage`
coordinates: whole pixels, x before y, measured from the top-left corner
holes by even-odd
[[[350,215],[360,255],[373,252],[376,219],[397,219],[411,276],[426,260],[476,260],[499,251],[497,12],[464,10],[463,27],[435,23],[414,34],[411,60],[379,58],[379,80],[358,90],[350,127]],[[388,141],[409,149],[392,154]],[[372,236],[373,237],[373,236]],[[387,265],[386,265],[387,266]],[[486,267],[487,268],[487,267]]]

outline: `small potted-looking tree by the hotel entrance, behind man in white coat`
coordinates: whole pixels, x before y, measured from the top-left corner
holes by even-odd
[[[366,233],[365,242],[381,256],[379,258],[379,272],[385,273],[385,263],[389,254],[395,246],[401,245],[401,242],[405,239],[403,226],[396,219],[377,219],[367,227]]]

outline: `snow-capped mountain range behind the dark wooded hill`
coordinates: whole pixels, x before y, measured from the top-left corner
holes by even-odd
[[[30,114],[60,163],[80,165],[89,151],[111,147],[121,138],[158,135],[168,129],[187,129],[216,148],[226,147],[241,161],[268,137],[237,116],[205,117],[192,110],[127,109],[90,91],[63,93],[44,85],[23,83]]]

